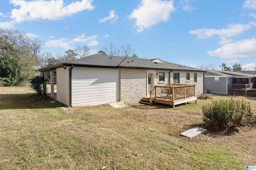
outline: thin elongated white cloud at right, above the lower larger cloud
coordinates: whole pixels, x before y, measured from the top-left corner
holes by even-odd
[[[243,24],[229,24],[227,29],[196,29],[189,31],[190,34],[196,34],[198,39],[206,39],[214,35],[220,36],[221,39],[233,37],[242,33],[245,30],[255,26],[255,22],[250,22],[247,25]]]

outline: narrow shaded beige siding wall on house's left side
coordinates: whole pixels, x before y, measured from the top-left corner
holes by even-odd
[[[57,100],[68,106],[68,75],[69,70],[64,68],[57,68]]]

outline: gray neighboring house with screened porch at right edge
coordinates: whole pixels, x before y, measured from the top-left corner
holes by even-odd
[[[207,93],[228,94],[229,91],[245,91],[255,86],[256,75],[221,70],[207,70],[204,73]]]

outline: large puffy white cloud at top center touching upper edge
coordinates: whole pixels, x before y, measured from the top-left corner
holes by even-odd
[[[132,11],[129,18],[136,20],[134,26],[137,27],[136,31],[139,33],[144,31],[144,28],[148,29],[160,21],[168,21],[170,13],[175,10],[172,0],[142,0],[140,6]]]

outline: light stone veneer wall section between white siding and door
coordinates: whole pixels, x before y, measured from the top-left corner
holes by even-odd
[[[146,96],[147,70],[120,68],[120,101],[139,102]]]

